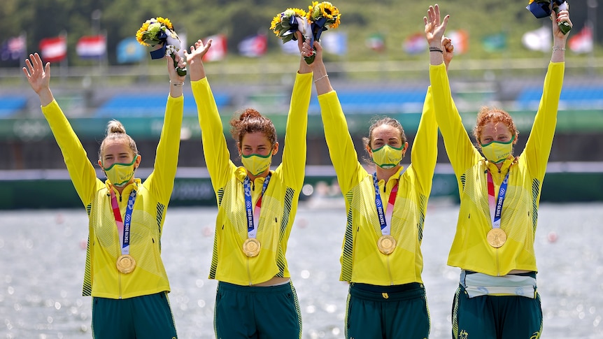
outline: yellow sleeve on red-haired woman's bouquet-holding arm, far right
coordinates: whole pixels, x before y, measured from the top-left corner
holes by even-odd
[[[544,178],[546,172],[546,163],[551,154],[553,136],[557,126],[557,112],[564,72],[565,62],[548,64],[540,106],[523,150],[523,157],[525,157],[530,175],[534,178]]]

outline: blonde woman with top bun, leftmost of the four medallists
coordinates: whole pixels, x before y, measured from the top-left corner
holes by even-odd
[[[177,338],[159,243],[178,164],[185,77],[176,73],[173,59],[166,59],[170,84],[162,138],[144,182],[134,177],[141,163],[136,143],[116,120],[109,122],[99,148],[98,164],[107,180],[97,178],[50,92],[50,64],[36,53],[23,68],[88,213],[83,295],[92,296],[93,338]]]

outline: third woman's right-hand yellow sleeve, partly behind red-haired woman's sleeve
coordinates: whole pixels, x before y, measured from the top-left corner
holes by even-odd
[[[416,173],[421,190],[428,195],[432,189],[432,179],[438,158],[438,125],[431,87],[427,88],[423,114],[412,147],[411,166]]]

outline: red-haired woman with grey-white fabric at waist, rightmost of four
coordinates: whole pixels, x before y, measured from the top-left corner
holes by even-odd
[[[474,129],[477,148],[471,143],[438,52],[448,16],[441,20],[436,5],[425,17],[433,51],[430,80],[436,118],[460,192],[457,231],[448,256],[448,265],[461,269],[453,301],[454,339],[541,335],[534,233],[565,70],[567,36],[558,22],[572,26],[567,10],[558,15],[553,11],[551,19],[553,54],[544,92],[525,149],[514,157],[518,131],[504,110],[482,108]]]

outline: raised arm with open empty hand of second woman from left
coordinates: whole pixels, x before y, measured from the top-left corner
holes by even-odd
[[[207,170],[211,177],[213,189],[217,192],[229,178],[229,168],[234,166],[230,161],[230,152],[224,136],[224,127],[218,113],[218,106],[209,82],[207,81],[203,56],[211,48],[211,39],[204,45],[198,40],[191,46],[190,53],[185,52],[187,69],[190,73],[190,82],[194,101],[197,103],[199,127],[201,127],[201,140]]]

